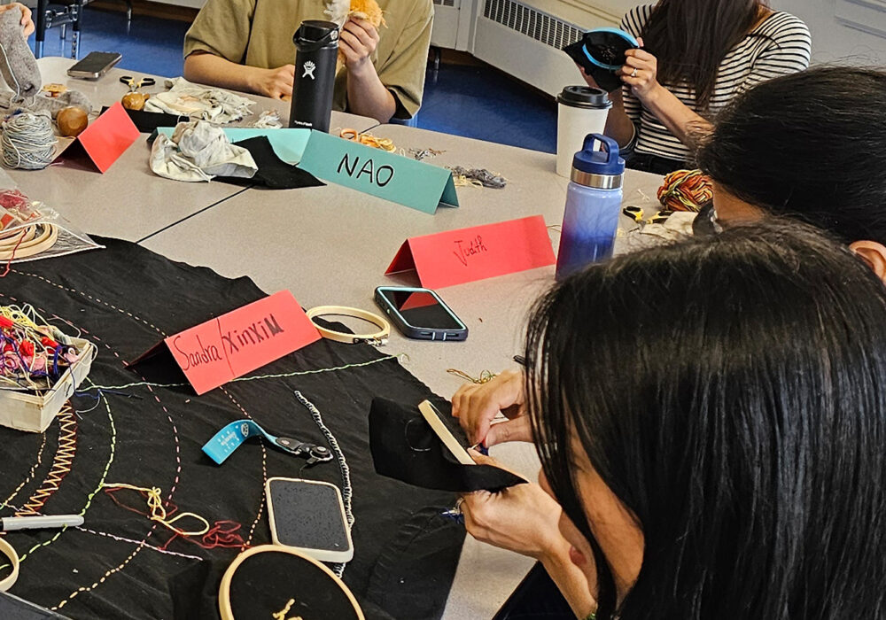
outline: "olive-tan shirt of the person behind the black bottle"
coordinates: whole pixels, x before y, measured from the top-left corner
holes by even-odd
[[[422,105],[431,45],[432,0],[378,0],[386,26],[371,60],[397,101],[396,116]],[[329,19],[324,0],[208,0],[184,36],[184,56],[204,51],[241,65],[273,69],[295,62],[292,35],[305,19]],[[347,110],[347,71],[338,72],[336,110]]]

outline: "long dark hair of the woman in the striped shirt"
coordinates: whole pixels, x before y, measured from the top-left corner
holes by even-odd
[[[658,81],[687,83],[698,108],[707,109],[723,58],[765,7],[760,0],[660,0],[643,27],[643,43],[658,60]]]

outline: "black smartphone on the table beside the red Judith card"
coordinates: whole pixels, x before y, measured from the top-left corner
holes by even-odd
[[[468,328],[431,289],[379,286],[376,303],[408,338],[464,340]]]

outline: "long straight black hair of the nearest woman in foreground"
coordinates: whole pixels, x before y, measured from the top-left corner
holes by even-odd
[[[526,359],[598,618],[886,617],[886,287],[844,246],[765,222],[589,267],[540,299]],[[620,602],[573,437],[645,537]]]

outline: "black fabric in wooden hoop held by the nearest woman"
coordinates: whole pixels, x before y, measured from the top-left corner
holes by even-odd
[[[525,479],[492,465],[462,465],[415,404],[390,399],[372,400],[369,411],[369,448],[376,471],[382,476],[401,480],[425,489],[473,492],[501,491]],[[444,415],[452,408],[446,402],[434,403]],[[453,429],[455,437],[467,445],[461,429]]]

